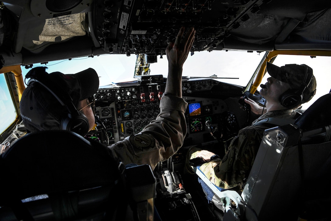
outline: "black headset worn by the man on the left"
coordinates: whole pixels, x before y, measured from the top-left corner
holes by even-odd
[[[27,85],[31,82],[38,82],[68,110],[68,115],[61,119],[60,127],[62,130],[69,130],[85,136],[89,131],[87,117],[76,109],[72,103],[72,98],[67,91],[59,90],[55,85],[50,84],[52,81],[48,76],[48,73],[45,71],[46,68],[47,67],[36,67],[32,69],[33,71],[30,70],[32,72],[26,75],[26,78],[30,78]]]

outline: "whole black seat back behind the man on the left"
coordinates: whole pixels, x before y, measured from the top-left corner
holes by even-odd
[[[25,135],[0,156],[0,168],[0,220],[137,220],[147,214],[127,205],[143,210],[155,196],[148,165],[125,169],[107,147],[71,131]]]

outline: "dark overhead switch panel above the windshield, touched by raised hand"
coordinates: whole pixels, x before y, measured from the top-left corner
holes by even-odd
[[[207,1],[96,1],[95,41],[109,53],[164,55],[181,26],[197,31],[191,52],[221,46],[260,10],[262,0]]]

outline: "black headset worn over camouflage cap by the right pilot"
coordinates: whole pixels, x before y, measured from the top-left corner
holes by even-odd
[[[285,65],[286,66],[286,65]],[[289,89],[279,96],[280,104],[285,108],[298,106],[303,98],[303,93],[312,79],[312,69],[307,66],[306,76],[300,89]]]

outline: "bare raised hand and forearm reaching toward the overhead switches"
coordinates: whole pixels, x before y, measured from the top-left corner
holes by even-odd
[[[191,27],[183,37],[185,28],[181,27],[175,42],[170,42],[166,48],[166,56],[168,59],[168,78],[166,83],[165,93],[181,97],[181,80],[183,72],[183,64],[193,45],[195,30]]]

